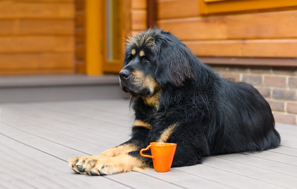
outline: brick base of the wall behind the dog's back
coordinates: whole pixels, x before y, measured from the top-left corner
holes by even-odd
[[[213,66],[224,78],[253,85],[270,104],[279,123],[297,125],[297,68]]]

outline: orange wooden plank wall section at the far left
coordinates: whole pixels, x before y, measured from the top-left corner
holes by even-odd
[[[74,72],[74,1],[0,1],[0,74]]]

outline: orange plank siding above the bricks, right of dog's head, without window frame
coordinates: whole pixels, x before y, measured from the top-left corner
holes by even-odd
[[[202,16],[198,0],[157,0],[157,24],[203,57],[297,57],[297,10]]]

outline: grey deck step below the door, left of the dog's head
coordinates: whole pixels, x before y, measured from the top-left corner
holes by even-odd
[[[0,103],[129,98],[119,76],[24,75],[0,76]]]

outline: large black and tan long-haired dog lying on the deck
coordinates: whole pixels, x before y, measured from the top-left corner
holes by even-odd
[[[100,155],[72,158],[90,175],[152,169],[139,151],[150,142],[177,143],[172,167],[203,156],[262,151],[279,145],[269,104],[251,85],[220,78],[173,34],[159,29],[129,39],[122,90],[132,94],[132,138]],[[150,153],[150,152],[148,152]]]

